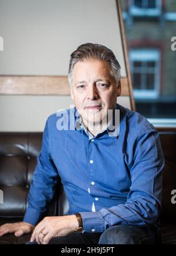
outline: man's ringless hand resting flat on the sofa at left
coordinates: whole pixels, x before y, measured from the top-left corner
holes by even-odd
[[[31,233],[33,230],[34,226],[27,222],[5,224],[0,226],[0,237],[8,233],[15,233],[16,237],[20,237],[23,234]]]

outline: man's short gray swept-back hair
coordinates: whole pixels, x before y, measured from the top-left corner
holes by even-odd
[[[120,64],[116,59],[113,51],[104,45],[86,43],[80,45],[76,51],[70,55],[69,63],[69,84],[72,85],[73,78],[73,68],[75,64],[79,61],[84,61],[86,59],[99,59],[101,61],[107,61],[110,65],[110,74],[116,80],[117,85],[119,84],[121,74],[120,74]]]

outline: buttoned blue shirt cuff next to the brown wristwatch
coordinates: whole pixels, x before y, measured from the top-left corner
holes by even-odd
[[[104,232],[104,218],[101,212],[80,212],[86,232]]]

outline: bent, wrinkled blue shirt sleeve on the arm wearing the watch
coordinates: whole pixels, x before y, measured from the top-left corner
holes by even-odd
[[[143,132],[134,145],[131,187],[126,204],[80,212],[87,232],[104,232],[113,225],[156,224],[161,213],[164,155],[155,129]]]

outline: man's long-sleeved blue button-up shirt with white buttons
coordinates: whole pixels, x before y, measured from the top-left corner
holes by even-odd
[[[116,109],[120,122],[111,134],[107,126],[93,138],[83,125],[77,127],[76,108],[48,118],[24,221],[39,222],[60,177],[68,214],[80,212],[87,232],[157,224],[164,167],[158,132],[137,112],[119,104]]]

